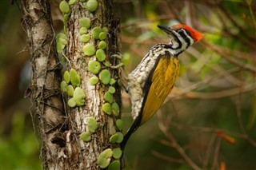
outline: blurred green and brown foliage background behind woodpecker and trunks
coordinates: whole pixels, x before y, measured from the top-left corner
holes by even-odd
[[[58,2],[51,2],[56,31]],[[129,140],[126,169],[256,169],[256,1],[115,0],[114,7],[128,73],[150,47],[168,42],[158,24],[184,23],[205,34],[179,56],[166,103]],[[37,121],[23,98],[31,74],[26,36],[18,6],[1,1],[0,8],[0,169],[40,169]],[[127,129],[125,92],[122,101]]]

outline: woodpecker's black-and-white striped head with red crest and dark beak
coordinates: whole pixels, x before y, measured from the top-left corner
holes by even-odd
[[[165,31],[170,38],[170,47],[174,49],[174,54],[178,55],[187,49],[190,45],[198,42],[203,34],[183,24],[177,24],[174,26],[158,26],[161,30]]]

